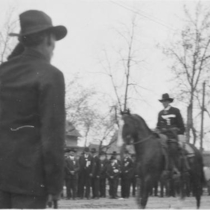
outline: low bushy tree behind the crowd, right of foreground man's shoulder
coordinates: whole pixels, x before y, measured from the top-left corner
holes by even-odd
[[[84,146],[97,141],[102,145],[112,133],[114,122],[106,97],[92,88],[83,87],[75,77],[67,85],[67,118],[83,135]],[[105,106],[104,106],[105,105]],[[103,110],[102,110],[103,107]]]

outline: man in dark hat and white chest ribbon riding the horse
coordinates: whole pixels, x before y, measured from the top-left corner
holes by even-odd
[[[179,147],[182,147],[183,142],[181,141],[183,141],[184,138],[185,126],[180,110],[170,105],[173,100],[174,99],[171,98],[168,93],[164,93],[162,98],[159,99],[164,109],[161,110],[158,114],[157,131],[158,133],[164,134],[167,137],[166,142],[168,145],[174,142],[178,143]],[[180,151],[182,151],[181,148]],[[170,152],[168,152],[168,157],[166,159],[169,158],[169,162],[172,162],[172,165],[167,163],[166,170],[168,170],[169,167],[172,167],[175,172],[179,173],[174,160],[171,160],[173,159],[173,155],[169,155],[169,153]],[[181,155],[184,158],[185,170],[189,170],[189,164],[183,152],[181,152]]]

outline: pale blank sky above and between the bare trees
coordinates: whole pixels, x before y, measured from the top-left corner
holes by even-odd
[[[202,2],[210,5],[210,1]],[[182,27],[184,4],[188,8],[194,5],[193,1],[184,0],[0,0],[0,19],[3,22],[5,12],[11,7],[15,8],[16,19],[18,14],[29,9],[46,12],[54,25],[61,24],[68,29],[67,37],[57,43],[52,61],[64,73],[66,84],[79,73],[85,86],[113,94],[109,78],[98,73],[102,68],[98,63],[99,55],[115,43],[113,29],[119,28],[122,22],[130,23],[133,14],[130,9],[138,11],[142,28],[140,39],[146,46],[143,49],[146,64],[138,77],[140,85],[148,91],[142,90],[144,101],[138,101],[131,110],[154,128],[157,113],[162,109],[158,99],[165,92],[172,93],[173,88],[169,63],[156,45],[167,43],[174,31]],[[174,105],[181,109],[185,118],[186,107],[176,100]]]

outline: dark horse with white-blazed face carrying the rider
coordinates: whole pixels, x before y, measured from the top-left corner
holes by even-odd
[[[152,187],[160,180],[164,171],[165,163],[161,141],[149,129],[143,118],[137,114],[126,112],[122,113],[117,144],[121,148],[128,144],[133,144],[134,146],[140,178],[137,202],[140,208],[145,208]],[[194,181],[194,195],[197,201],[197,208],[199,208],[203,180],[203,162],[200,152],[195,147],[193,147],[193,150],[195,151],[195,156],[190,160],[190,177]],[[181,160],[181,158],[179,159]],[[179,178],[180,199],[184,198],[184,178]]]

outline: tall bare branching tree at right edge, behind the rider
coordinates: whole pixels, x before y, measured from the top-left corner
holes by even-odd
[[[199,2],[193,14],[184,6],[184,14],[186,24],[178,41],[164,47],[164,53],[173,60],[177,97],[187,104],[187,140],[190,140],[192,132],[195,144],[198,130],[195,126],[194,108],[199,107],[203,81],[209,79],[210,12]]]

